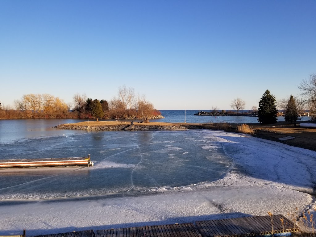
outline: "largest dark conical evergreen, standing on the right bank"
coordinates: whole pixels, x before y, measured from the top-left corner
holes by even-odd
[[[276,99],[274,95],[266,90],[259,101],[258,121],[261,124],[274,124],[276,119]]]

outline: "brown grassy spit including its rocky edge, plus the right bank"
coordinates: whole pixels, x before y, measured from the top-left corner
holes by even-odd
[[[262,124],[247,124],[253,130],[251,134],[253,137],[259,137],[266,140],[276,141],[288,144],[295,147],[301,147],[316,151],[316,129],[303,128],[291,125],[288,122],[277,122],[272,125]],[[62,124],[56,126],[60,129],[78,129],[78,130],[92,130],[92,131],[146,131],[146,130],[188,130],[188,129],[210,129],[210,130],[225,130],[228,132],[239,132],[239,124],[223,124],[223,123],[163,123],[150,122],[139,123],[126,121],[86,121],[73,124]],[[280,141],[278,138],[295,137],[292,140]]]

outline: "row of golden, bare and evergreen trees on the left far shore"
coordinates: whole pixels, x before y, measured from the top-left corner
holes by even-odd
[[[125,85],[119,87],[112,100],[88,98],[86,94],[75,94],[72,103],[65,103],[50,94],[24,94],[14,100],[15,110],[2,110],[0,101],[0,118],[99,118],[105,119],[149,119],[161,115],[145,95],[135,93],[134,88]]]

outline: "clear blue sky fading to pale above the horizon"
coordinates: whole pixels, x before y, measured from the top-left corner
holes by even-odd
[[[155,108],[258,106],[316,72],[316,1],[0,0],[0,101],[119,86]]]

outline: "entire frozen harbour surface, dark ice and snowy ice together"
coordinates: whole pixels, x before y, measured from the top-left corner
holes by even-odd
[[[316,152],[224,131],[95,132],[1,145],[2,158],[91,154],[94,167],[0,170],[0,235],[313,208]]]

